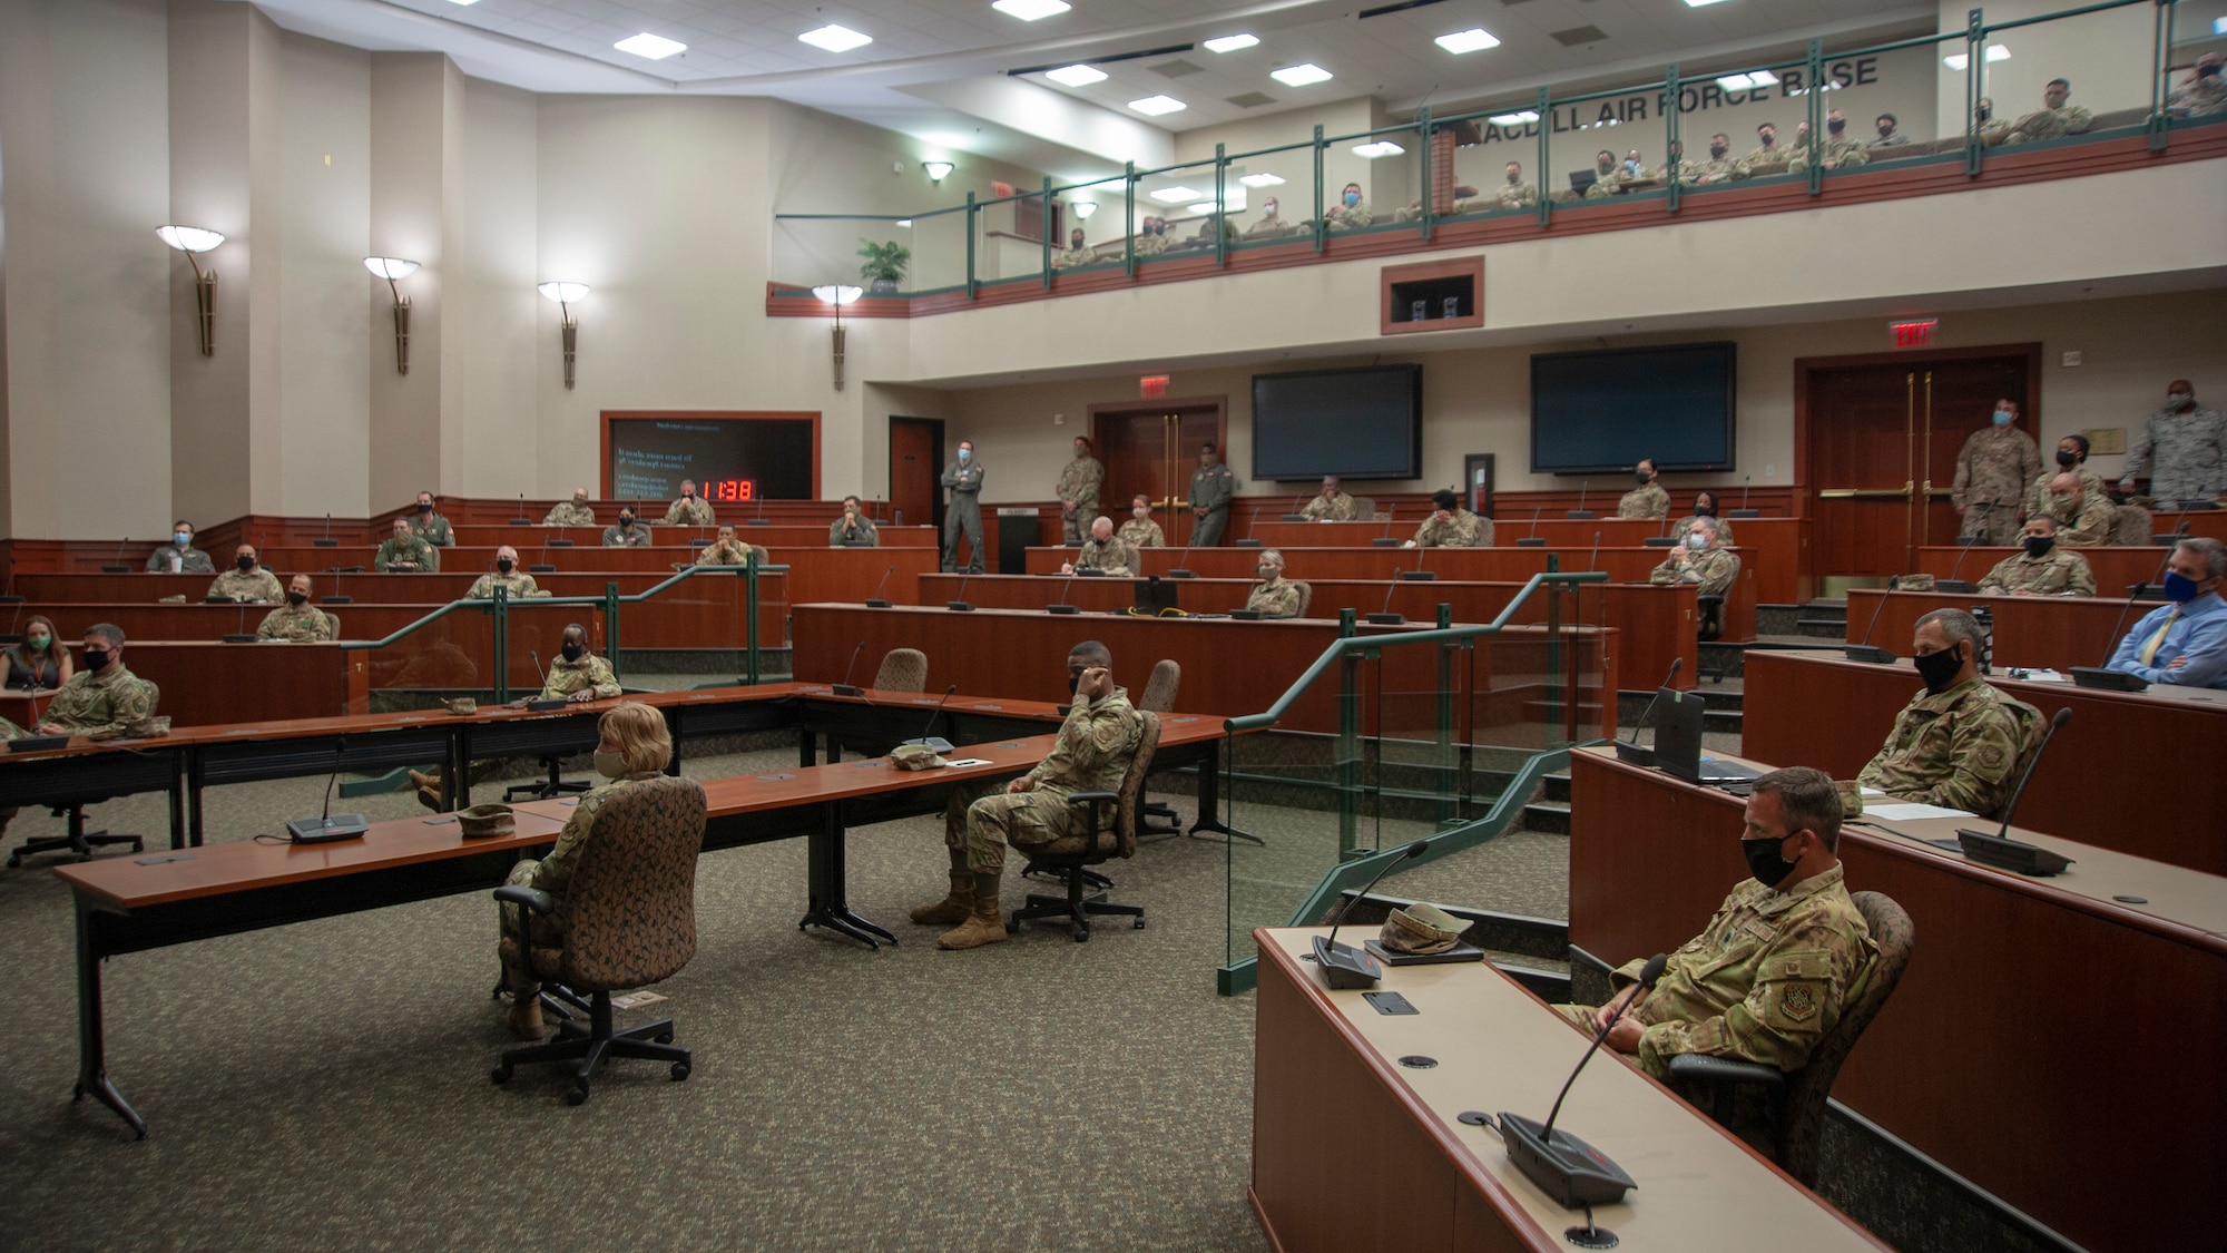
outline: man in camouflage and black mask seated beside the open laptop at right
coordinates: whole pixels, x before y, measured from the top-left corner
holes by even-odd
[[[1980,622],[1962,609],[1917,620],[1911,653],[1926,689],[1895,716],[1877,756],[1855,776],[1897,800],[1993,814],[2011,798],[2042,711],[1980,678]]]

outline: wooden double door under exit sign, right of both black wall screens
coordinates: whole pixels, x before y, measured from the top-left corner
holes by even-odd
[[[1813,573],[1886,580],[1953,544],[1964,439],[1998,397],[2038,428],[2040,346],[1795,361],[1795,448],[1815,493]]]

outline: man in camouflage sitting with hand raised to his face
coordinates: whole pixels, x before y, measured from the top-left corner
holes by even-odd
[[[1076,832],[1078,814],[1067,798],[1076,791],[1120,791],[1129,758],[1136,756],[1142,718],[1129,691],[1114,687],[1114,653],[1085,640],[1067,653],[1067,678],[1076,700],[1060,725],[1060,742],[1029,774],[987,794],[984,785],[960,785],[944,807],[944,847],[951,854],[951,894],[913,910],[920,925],[953,925],[938,936],[940,948],[978,948],[1004,941],[998,890],[1004,847],[1022,856]]]

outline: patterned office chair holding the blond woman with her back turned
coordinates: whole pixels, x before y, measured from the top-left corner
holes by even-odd
[[[670,979],[695,956],[695,870],[704,852],[704,789],[693,780],[641,780],[606,796],[563,896],[517,885],[494,890],[497,901],[519,907],[514,925],[506,914],[503,959],[517,959],[528,914],[548,914],[561,923],[563,939],[555,948],[532,945],[534,974],[592,997],[590,1026],[566,1019],[557,1039],[503,1052],[492,1072],[497,1084],[508,1084],[514,1066],[577,1061],[572,1090],[566,1092],[566,1101],[577,1106],[610,1057],[670,1061],[673,1079],[688,1077],[688,1050],[673,1046],[673,1019],[612,1030],[610,994]]]

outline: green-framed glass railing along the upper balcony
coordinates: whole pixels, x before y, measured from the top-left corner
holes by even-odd
[[[2073,22],[2096,22],[2113,11],[2136,9],[2145,4],[2151,9],[2147,22],[2105,20],[2093,31],[2089,27],[2073,27]],[[2125,40],[2133,40],[2138,38],[2133,33],[2133,27],[2142,27],[2147,29],[2149,47],[2145,51],[2149,54],[2147,60],[2151,69],[2149,69],[2147,91],[2140,94],[2140,100],[2133,96],[2131,76],[2120,76],[2118,80],[2118,94],[2125,98],[2111,96],[2111,98],[2089,100],[2091,105],[2098,107],[2100,114],[2122,114],[2140,107],[2138,123],[2113,125],[2102,132],[2071,134],[2044,143],[2084,143],[2091,138],[2147,134],[2151,149],[2165,149],[2171,143],[2171,136],[2180,129],[2187,129],[2191,125],[2211,125],[2227,120],[2220,116],[2200,116],[2200,118],[2176,116],[2176,109],[2169,105],[2169,96],[2174,89],[2171,60],[2176,56],[2174,47],[2180,29],[2176,18],[2180,4],[2182,0],[2102,0],[2098,4],[2084,4],[2084,7],[2062,9],[2056,13],[2015,18],[2004,22],[1986,22],[1982,9],[1971,9],[1964,27],[1955,31],[1900,38],[1862,47],[1831,47],[1831,49],[1826,47],[1826,40],[1813,38],[1808,40],[1806,49],[1799,56],[1768,60],[1768,62],[1748,62],[1737,67],[1701,67],[1701,65],[1670,62],[1664,67],[1661,74],[1639,74],[1630,82],[1608,89],[1588,87],[1583,91],[1561,91],[1557,87],[1539,87],[1537,94],[1530,98],[1503,100],[1492,107],[1468,109],[1443,116],[1432,114],[1430,107],[1421,107],[1416,109],[1416,116],[1412,120],[1356,134],[1338,134],[1338,136],[1325,134],[1325,129],[1318,125],[1314,127],[1312,140],[1260,147],[1249,152],[1227,152],[1225,145],[1216,145],[1214,156],[1203,161],[1187,161],[1154,169],[1138,169],[1136,163],[1127,163],[1116,178],[1098,183],[1053,183],[1051,178],[1042,178],[1038,187],[1029,187],[1027,192],[1016,190],[1011,196],[995,196],[995,198],[978,198],[973,194],[967,194],[964,205],[946,205],[940,210],[924,210],[918,214],[775,214],[777,230],[795,230],[806,234],[811,230],[817,230],[813,223],[844,223],[844,239],[840,252],[833,245],[817,245],[804,239],[793,239],[788,243],[795,243],[793,252],[799,252],[799,256],[795,256],[793,261],[777,256],[775,268],[782,270],[795,265],[797,270],[806,272],[806,276],[797,281],[797,290],[804,290],[813,283],[828,281],[831,274],[844,272],[848,263],[851,232],[860,225],[895,223],[900,230],[913,230],[915,239],[920,239],[918,232],[922,232],[924,223],[933,223],[949,214],[964,214],[964,241],[967,241],[964,270],[955,274],[942,274],[938,281],[911,288],[904,294],[964,292],[967,299],[975,299],[984,288],[1007,285],[1007,283],[1033,283],[1051,288],[1051,279],[1058,270],[1056,254],[1065,247],[1065,239],[1053,239],[1051,230],[1053,205],[1069,201],[1091,201],[1098,203],[1100,210],[1114,210],[1116,205],[1120,207],[1120,221],[1105,223],[1114,225],[1114,234],[1100,232],[1100,247],[1109,247],[1114,239],[1118,239],[1120,250],[1107,252],[1105,256],[1087,265],[1073,268],[1080,272],[1096,272],[1096,270],[1111,272],[1118,268],[1122,274],[1134,279],[1140,268],[1151,268],[1154,263],[1165,259],[1207,259],[1207,256],[1211,256],[1214,265],[1220,268],[1227,265],[1234,252],[1245,252],[1252,247],[1292,245],[1292,243],[1312,243],[1316,252],[1323,252],[1332,234],[1347,232],[1347,227],[1341,227],[1332,216],[1334,196],[1330,194],[1330,181],[1332,181],[1327,165],[1330,158],[1341,149],[1341,145],[1379,143],[1379,140],[1394,140],[1407,149],[1407,154],[1403,154],[1403,158],[1394,163],[1394,169],[1403,167],[1401,174],[1392,178],[1381,178],[1374,174],[1379,165],[1372,161],[1370,165],[1365,165],[1370,174],[1356,181],[1374,183],[1374,192],[1379,196],[1385,196],[1387,201],[1414,201],[1414,207],[1410,210],[1390,203],[1381,205],[1370,225],[1352,227],[1354,234],[1416,232],[1419,239],[1430,241],[1436,227],[1450,218],[1523,216],[1523,214],[1537,216],[1539,225],[1543,227],[1557,214],[1588,212],[1603,203],[1632,203],[1635,196],[1659,198],[1664,212],[1668,216],[1675,216],[1681,212],[1684,203],[1695,194],[1708,194],[1721,187],[1737,187],[1750,183],[1746,178],[1742,178],[1739,183],[1695,183],[1684,174],[1679,161],[1670,158],[1670,154],[1681,152],[1684,123],[1688,120],[1688,114],[1710,107],[1708,100],[1717,98],[1710,96],[1717,91],[1717,85],[1713,85],[1710,80],[1728,80],[1735,76],[1755,76],[1755,74],[1766,74],[1768,76],[1766,82],[1777,87],[1775,91],[1770,91],[1768,96],[1770,100],[1799,103],[1802,118],[1808,123],[1808,132],[1806,138],[1784,145],[1788,152],[1788,165],[1793,158],[1802,158],[1804,169],[1766,174],[1762,178],[1755,178],[1753,183],[1762,181],[1799,183],[1806,190],[1806,194],[1822,196],[1826,192],[1826,183],[1835,183],[1840,178],[1851,178],[1851,176],[1860,178],[1866,172],[1877,169],[1877,163],[1826,169],[1824,123],[1826,123],[1826,109],[1831,105],[1828,94],[1842,87],[1860,85],[1860,82],[1848,82],[1851,78],[1857,78],[1855,69],[1851,67],[1857,67],[1866,58],[1886,58],[1886,56],[1922,58],[1926,62],[1924,80],[1933,82],[1935,96],[1940,94],[1942,74],[1962,76],[1960,111],[1955,116],[1944,111],[1944,116],[1940,116],[1935,125],[1935,138],[1931,143],[1937,145],[1937,152],[1924,156],[1897,156],[1893,165],[1906,167],[1913,161],[1917,163],[1962,161],[1966,174],[1978,176],[1986,167],[1989,156],[1993,152],[2000,152],[1998,147],[2002,138],[2000,123],[2007,120],[2009,116],[2015,116],[2018,111],[2027,111],[2038,105],[2038,100],[2015,100],[2015,103],[1995,100],[2002,116],[1982,125],[1980,100],[1989,96],[1989,74],[1991,74],[1986,69],[1989,67],[1986,49],[2000,36],[2035,27],[2051,27],[2051,25],[2056,27],[2053,33],[2058,36],[2060,45],[2087,42],[2098,47],[2113,47]],[[2113,49],[2116,62],[2127,60],[2125,56],[2118,56],[2122,51],[2127,49],[2125,47]],[[1953,67],[1942,69],[1944,54],[1962,54],[1966,69],[1953,69]],[[2047,56],[2060,56],[2060,54],[2047,54]],[[2194,56],[2194,51],[2189,51],[2189,56]],[[2051,65],[2049,71],[2064,74],[2078,85],[2082,82],[2087,71],[2078,60],[2080,60],[2078,56],[2064,56],[2064,65]],[[1917,74],[1917,69],[1915,67],[1906,69],[1911,85],[1920,82],[1922,76]],[[1799,76],[1799,85],[1791,85],[1788,76]],[[2102,69],[2098,69],[2098,76],[2102,76]],[[1733,91],[1735,89],[1726,87],[1721,98],[1728,98]],[[1755,100],[1755,91],[1768,91],[1768,87],[1748,89],[1742,103],[1748,105],[1759,103]],[[2107,87],[2105,91],[2111,89]],[[1630,100],[1637,100],[1639,103],[1637,111],[1644,111],[1650,118],[1655,118],[1659,127],[1652,129],[1650,136],[1641,136],[1641,123],[1637,120],[1615,125],[1612,129],[1601,129],[1610,127],[1612,120],[1621,123],[1623,105]],[[1668,107],[1672,100],[1677,100],[1677,107]],[[1597,116],[1595,120],[1583,120],[1574,111],[1563,114],[1563,109],[1577,109],[1581,105],[1601,105],[1603,109],[1615,114],[1615,118]],[[1534,118],[1514,120],[1521,118],[1523,111],[1534,114]],[[1601,114],[1601,109],[1595,109],[1595,114]],[[1494,118],[1501,120],[1494,123]],[[1868,118],[1848,118],[1851,132],[1866,120]],[[1492,198],[1490,187],[1485,187],[1485,192],[1481,192],[1468,205],[1459,207],[1459,212],[1448,212],[1452,210],[1452,205],[1443,205],[1432,192],[1434,163],[1441,161],[1441,156],[1432,149],[1432,136],[1445,134],[1450,129],[1456,134],[1468,134],[1470,127],[1474,127],[1474,132],[1481,138],[1490,140],[1479,147],[1479,152],[1483,152],[1488,158],[1497,158],[1499,152],[1505,152],[1494,147],[1497,140],[1537,138],[1537,152],[1532,156],[1537,161],[1534,169],[1534,187],[1539,192],[1537,205],[1501,205]],[[1603,140],[1615,136],[1617,147],[1626,147],[1623,143],[1626,138],[1632,140],[1646,138],[1661,143],[1661,163],[1659,163],[1661,172],[1652,181],[1639,181],[1641,187],[1632,187],[1617,196],[1588,201],[1574,196],[1574,192],[1554,192],[1548,185],[1550,172],[1557,167],[1554,140],[1557,136],[1574,138],[1579,134],[1601,136]],[[1735,145],[1735,149],[1739,145]],[[1572,156],[1577,154],[1566,149],[1561,154],[1559,165],[1570,167]],[[1499,161],[1492,163],[1499,165]],[[1590,156],[1581,165],[1590,167],[1592,165]],[[1200,239],[1194,245],[1169,247],[1156,254],[1140,254],[1136,247],[1138,214],[1140,210],[1147,214],[1154,212],[1149,198],[1140,205],[1140,190],[1142,190],[1140,185],[1151,183],[1156,178],[1174,178],[1174,176],[1183,176],[1183,185],[1191,185],[1194,176],[1198,181],[1205,181],[1209,169],[1214,190],[1211,190],[1211,201],[1205,203],[1200,216],[1205,218],[1207,234],[1211,234],[1211,247],[1207,247],[1207,241]],[[1247,185],[1247,181],[1260,181],[1260,178],[1269,178],[1274,183]],[[1305,183],[1301,183],[1303,178]],[[1116,183],[1120,185],[1118,201],[1105,196],[1105,192],[1109,192]],[[1238,214],[1252,212],[1249,203],[1245,205],[1236,203],[1232,183],[1247,185],[1245,190],[1236,192],[1236,196],[1247,196],[1254,190],[1263,194],[1274,194],[1267,192],[1267,187],[1301,185],[1303,187],[1301,194],[1307,196],[1309,216],[1305,221],[1292,221],[1292,214],[1278,214],[1292,221],[1292,230],[1283,234],[1232,236],[1234,225],[1229,223],[1234,223]],[[1490,178],[1479,178],[1481,187],[1485,183],[1490,183]],[[1036,241],[1033,250],[1036,256],[1031,261],[1031,272],[984,274],[980,270],[982,252],[978,247],[978,241],[984,236],[987,230],[984,214],[1020,201],[1033,201],[1042,210],[1042,230],[1040,239]],[[1089,221],[1102,223],[1102,218],[1089,218]],[[777,239],[777,254],[782,252],[782,245],[784,241]],[[873,297],[869,294],[869,299]]]

